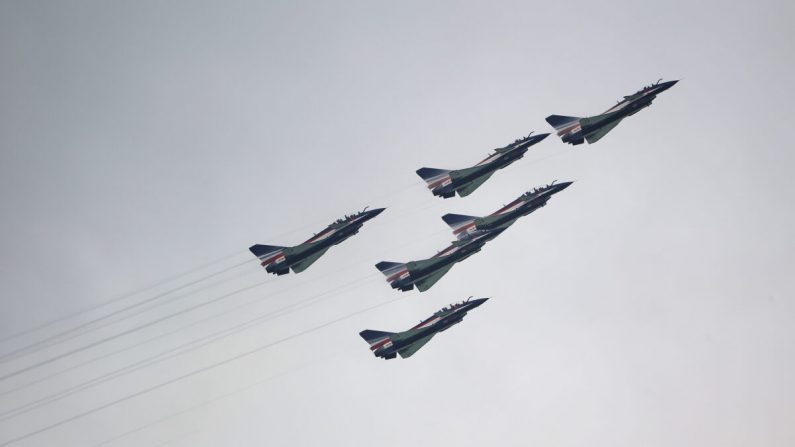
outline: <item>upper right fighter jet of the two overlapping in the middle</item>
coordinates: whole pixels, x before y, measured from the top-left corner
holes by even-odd
[[[533,211],[545,206],[553,194],[568,188],[572,182],[564,182],[540,188],[533,188],[531,191],[519,196],[518,199],[503,206],[496,212],[486,217],[464,216],[461,214],[445,214],[442,216],[447,225],[453,229],[453,234],[458,239],[468,239],[473,234],[478,234],[484,230],[506,229],[513,225],[520,217],[527,216]]]

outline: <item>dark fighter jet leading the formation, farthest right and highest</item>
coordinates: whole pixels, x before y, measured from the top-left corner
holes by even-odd
[[[660,93],[673,87],[677,81],[668,81],[647,85],[632,95],[625,96],[618,104],[607,109],[603,114],[578,118],[576,116],[549,115],[547,122],[558,131],[558,136],[564,143],[571,145],[582,144],[583,140],[593,144],[613,130],[624,118],[638,113],[641,109],[651,105],[654,98]]]

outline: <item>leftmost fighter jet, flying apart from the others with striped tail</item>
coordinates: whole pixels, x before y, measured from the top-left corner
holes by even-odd
[[[303,244],[295,247],[280,247],[278,245],[252,245],[249,247],[251,253],[260,259],[260,264],[265,267],[268,273],[284,275],[290,273],[300,273],[312,265],[323,256],[332,245],[348,239],[359,232],[365,222],[381,214],[384,208],[374,210],[364,210],[346,215],[342,219],[332,222],[325,230],[315,234]]]

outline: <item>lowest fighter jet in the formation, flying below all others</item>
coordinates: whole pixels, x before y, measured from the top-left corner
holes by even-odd
[[[488,298],[468,299],[461,303],[451,304],[420,322],[420,324],[404,332],[383,332],[370,329],[359,332],[359,335],[370,344],[370,350],[376,357],[384,360],[395,358],[400,354],[408,358],[425,346],[434,335],[445,331],[450,326],[460,323],[467,312],[485,303]]]

